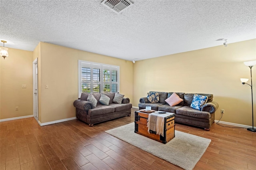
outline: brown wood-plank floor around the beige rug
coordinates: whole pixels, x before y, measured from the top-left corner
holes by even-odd
[[[73,120],[38,125],[34,118],[0,123],[1,170],[178,170],[105,130],[134,122],[122,117],[96,124]],[[176,124],[176,130],[211,139],[195,170],[255,170],[256,133],[212,125],[210,131]]]

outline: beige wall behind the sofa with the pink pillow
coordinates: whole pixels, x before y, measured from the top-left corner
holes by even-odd
[[[250,68],[243,63],[250,60],[256,60],[256,39],[136,61],[134,106],[148,91],[211,93],[219,104],[216,120],[225,109],[221,121],[252,125],[251,89],[240,81],[250,79]],[[256,66],[252,74],[256,117]]]

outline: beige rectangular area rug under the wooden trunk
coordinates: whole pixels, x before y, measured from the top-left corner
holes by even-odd
[[[162,144],[134,133],[134,123],[106,132],[185,170],[195,167],[211,142],[210,139],[175,130],[175,137]]]

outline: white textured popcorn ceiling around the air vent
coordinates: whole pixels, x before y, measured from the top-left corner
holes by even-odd
[[[48,42],[132,61],[256,38],[256,1],[0,0],[0,40],[33,51]],[[1,43],[2,46],[2,43]]]

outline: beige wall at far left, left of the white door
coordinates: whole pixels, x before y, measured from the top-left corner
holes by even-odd
[[[8,53],[0,58],[0,119],[33,115],[33,52],[9,48]]]

